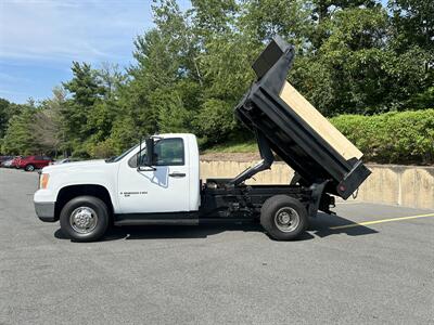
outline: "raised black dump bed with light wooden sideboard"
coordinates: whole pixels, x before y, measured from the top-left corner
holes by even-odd
[[[261,133],[305,185],[328,181],[327,193],[347,198],[371,172],[361,152],[286,81],[293,57],[292,46],[271,41],[253,64],[257,81],[235,116]]]

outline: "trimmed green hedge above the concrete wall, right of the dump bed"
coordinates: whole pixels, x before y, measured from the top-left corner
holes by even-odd
[[[434,164],[434,109],[341,115],[331,122],[365,155],[381,164]]]

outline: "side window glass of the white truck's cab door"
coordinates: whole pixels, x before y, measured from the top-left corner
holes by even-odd
[[[146,160],[146,151],[143,148],[140,153],[140,161]],[[141,162],[141,164],[142,164]],[[183,141],[180,138],[162,139],[155,142],[154,146],[154,166],[183,166],[184,148]],[[128,166],[137,168],[137,156],[128,160]]]

